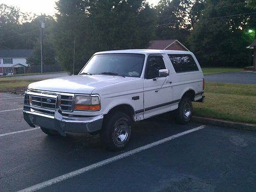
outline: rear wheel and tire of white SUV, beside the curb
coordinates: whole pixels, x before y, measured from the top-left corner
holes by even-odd
[[[190,98],[183,97],[176,110],[176,120],[180,124],[186,124],[191,120],[193,106]]]

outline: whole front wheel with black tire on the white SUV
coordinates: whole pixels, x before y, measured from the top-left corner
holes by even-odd
[[[100,131],[103,146],[111,151],[120,151],[127,146],[131,137],[131,119],[123,112],[106,116]]]

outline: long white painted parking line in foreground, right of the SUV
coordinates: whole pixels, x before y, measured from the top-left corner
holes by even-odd
[[[72,178],[72,177],[81,175],[81,174],[83,174],[83,173],[86,173],[86,172],[88,172],[89,170],[92,170],[92,169],[101,167],[101,166],[103,166],[103,165],[106,165],[106,164],[115,162],[115,161],[120,160],[120,159],[123,159],[123,158],[125,158],[125,157],[129,157],[129,156],[134,155],[134,154],[136,154],[136,153],[139,153],[139,152],[141,152],[141,151],[147,150],[148,148],[151,148],[151,147],[160,145],[160,144],[162,144],[162,143],[165,143],[165,142],[167,142],[167,141],[170,141],[170,140],[173,140],[173,139],[175,139],[175,138],[181,137],[181,136],[183,136],[183,135],[186,135],[186,134],[189,134],[189,133],[192,133],[192,132],[195,132],[195,131],[204,129],[204,127],[205,127],[205,125],[198,126],[198,127],[194,128],[194,129],[191,129],[191,130],[188,130],[188,131],[185,131],[185,132],[181,132],[181,133],[179,133],[179,134],[176,134],[176,135],[167,137],[167,138],[165,138],[165,139],[156,141],[156,142],[154,142],[154,143],[150,143],[150,144],[144,145],[144,146],[139,147],[139,148],[135,148],[135,149],[132,150],[132,151],[125,152],[125,153],[120,154],[120,155],[118,155],[118,156],[115,156],[115,157],[112,157],[112,158],[109,158],[109,159],[106,159],[106,160],[103,160],[103,161],[94,163],[94,164],[92,164],[92,165],[89,165],[89,166],[86,166],[86,167],[83,167],[83,168],[80,168],[80,169],[77,169],[77,170],[75,170],[74,172],[70,172],[70,173],[68,173],[68,174],[61,175],[61,176],[59,176],[59,177],[55,177],[55,178],[50,179],[50,180],[48,180],[48,181],[45,181],[45,182],[42,182],[42,183],[33,185],[33,186],[31,186],[31,187],[28,187],[28,188],[25,188],[25,189],[19,190],[19,191],[36,191],[36,190],[40,190],[40,189],[42,189],[42,188],[51,186],[51,185],[56,184],[56,183],[59,183],[59,182],[61,182],[61,181],[70,179],[70,178]]]

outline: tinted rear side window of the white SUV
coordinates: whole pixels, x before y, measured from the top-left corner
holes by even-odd
[[[168,54],[176,73],[198,71],[197,63],[189,54]]]

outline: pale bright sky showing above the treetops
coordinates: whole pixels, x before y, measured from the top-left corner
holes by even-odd
[[[54,15],[56,0],[0,0],[0,4],[4,3],[8,6],[15,6],[22,12],[28,12],[36,15],[45,13]],[[159,0],[147,0],[149,4],[157,5]]]

